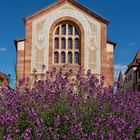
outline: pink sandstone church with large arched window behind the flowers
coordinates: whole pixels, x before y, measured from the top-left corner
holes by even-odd
[[[114,82],[114,48],[107,39],[109,21],[77,0],[58,0],[24,18],[25,38],[15,40],[17,82],[32,78],[53,67],[77,71],[81,66],[96,76],[105,76],[105,85]]]

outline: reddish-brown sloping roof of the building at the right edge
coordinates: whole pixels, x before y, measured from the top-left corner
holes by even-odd
[[[140,50],[137,51],[133,61],[128,65],[128,68],[125,72],[125,74],[127,74],[127,72],[132,68],[132,67],[138,67],[138,65],[140,65]]]

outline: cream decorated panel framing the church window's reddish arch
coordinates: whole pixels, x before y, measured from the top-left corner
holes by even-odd
[[[43,64],[46,65],[46,70],[49,69],[49,31],[57,19],[66,16],[73,17],[82,24],[85,32],[85,69],[91,69],[93,73],[99,74],[100,38],[97,39],[97,35],[100,34],[100,24],[68,4],[33,21],[31,72],[34,68],[41,72],[40,65]],[[94,31],[96,33],[93,33]],[[41,49],[43,49],[42,54],[39,53]],[[36,58],[37,53],[41,54],[38,54],[38,56],[43,58],[42,61]],[[89,61],[90,59],[92,59],[92,62]]]

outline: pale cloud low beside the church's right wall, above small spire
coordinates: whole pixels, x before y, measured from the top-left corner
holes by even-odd
[[[124,64],[116,64],[116,65],[114,65],[114,80],[115,81],[118,80],[120,70],[122,71],[122,74],[124,75],[126,69],[127,69],[127,65],[124,65]]]

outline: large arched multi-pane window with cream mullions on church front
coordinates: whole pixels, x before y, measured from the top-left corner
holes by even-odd
[[[77,25],[71,22],[58,24],[53,39],[54,64],[80,64],[81,37]]]

